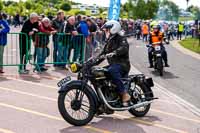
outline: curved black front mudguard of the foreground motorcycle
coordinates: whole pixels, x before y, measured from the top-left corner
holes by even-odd
[[[97,97],[97,94],[95,93],[95,91],[92,89],[92,87],[90,87],[86,82],[82,81],[82,80],[73,80],[65,85],[63,85],[58,93],[63,93],[65,91],[67,91],[70,87],[72,86],[80,86],[82,87],[82,85],[85,87],[85,89],[87,89],[91,96],[93,97],[93,100],[95,101],[95,105],[96,105],[96,109],[99,107],[99,100],[98,100],[98,97]]]

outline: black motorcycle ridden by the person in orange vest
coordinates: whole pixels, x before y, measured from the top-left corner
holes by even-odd
[[[161,42],[153,43],[152,45],[147,45],[147,47],[151,47],[153,49],[152,55],[154,69],[159,72],[160,76],[163,76],[164,63],[160,43]]]

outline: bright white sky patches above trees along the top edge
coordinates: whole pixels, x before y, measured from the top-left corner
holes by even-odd
[[[97,4],[100,6],[109,6],[110,0],[73,0],[75,2],[80,2],[84,4]],[[121,0],[121,3],[125,3],[127,0]],[[187,3],[186,0],[170,0],[176,3],[180,8],[186,9],[187,8]],[[195,6],[200,6],[200,0],[190,0],[189,5],[195,5]]]

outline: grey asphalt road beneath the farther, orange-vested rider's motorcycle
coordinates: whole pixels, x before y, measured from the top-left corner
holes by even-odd
[[[168,52],[169,68],[160,77],[154,69],[149,69],[147,48],[142,41],[129,39],[130,59],[142,73],[167,88],[179,97],[200,108],[200,60],[185,55],[171,45],[165,45]],[[173,42],[171,42],[173,43]]]

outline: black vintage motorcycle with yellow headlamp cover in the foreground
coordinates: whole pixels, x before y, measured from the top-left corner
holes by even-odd
[[[126,110],[136,117],[142,117],[156,99],[151,89],[152,78],[146,78],[143,74],[129,75],[122,79],[131,96],[130,104],[124,106],[106,67],[96,66],[105,58],[106,55],[101,55],[83,64],[71,64],[71,71],[78,73],[77,80],[67,76],[58,82],[58,108],[68,123],[83,126],[95,115]]]

